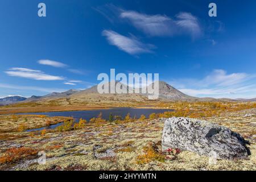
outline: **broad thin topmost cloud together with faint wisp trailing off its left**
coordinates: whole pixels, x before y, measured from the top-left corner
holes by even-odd
[[[128,20],[138,30],[148,36],[175,36],[181,34],[197,38],[203,34],[200,20],[195,15],[180,12],[173,18],[164,14],[144,14],[134,10],[125,10],[114,5],[105,5],[95,9],[110,22],[113,19]]]

